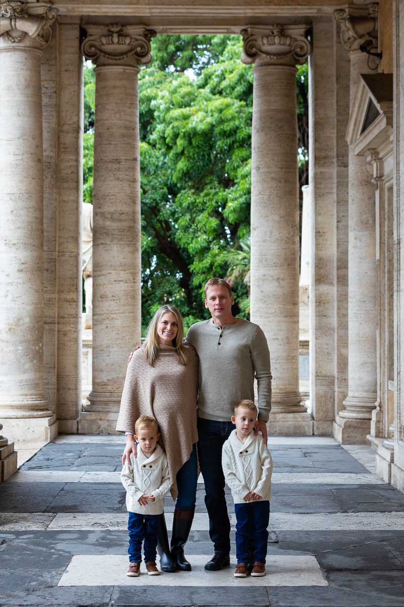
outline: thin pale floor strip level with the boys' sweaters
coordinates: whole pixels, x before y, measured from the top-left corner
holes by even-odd
[[[74,470],[27,470],[16,472],[7,483],[121,483],[121,472],[75,472]],[[198,483],[204,483],[199,475]],[[315,472],[274,472],[273,484],[342,484],[374,485],[385,484],[375,474],[367,473],[329,473]]]

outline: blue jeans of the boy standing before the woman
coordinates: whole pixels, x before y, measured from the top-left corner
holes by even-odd
[[[130,563],[141,563],[142,541],[145,553],[145,562],[156,561],[157,529],[159,514],[137,514],[129,512],[128,532]]]

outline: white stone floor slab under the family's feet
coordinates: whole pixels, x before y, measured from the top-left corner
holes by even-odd
[[[210,555],[189,555],[191,572],[147,575],[144,563],[139,577],[128,577],[126,555],[78,554],[71,558],[58,586],[328,586],[316,557],[306,555],[274,556],[267,559],[267,575],[264,577],[235,578],[233,568],[208,572],[204,565]],[[157,566],[158,566],[157,559]]]

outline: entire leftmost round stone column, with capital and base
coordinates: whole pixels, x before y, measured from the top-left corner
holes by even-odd
[[[49,440],[44,390],[41,55],[56,10],[1,2],[0,422],[13,440]],[[54,425],[53,430],[56,430]]]

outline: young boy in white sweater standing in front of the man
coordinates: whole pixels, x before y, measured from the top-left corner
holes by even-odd
[[[234,407],[231,421],[235,424],[222,450],[222,468],[231,489],[236,512],[236,557],[234,577],[246,577],[253,558],[251,575],[265,575],[268,531],[270,522],[271,453],[262,435],[254,434],[257,407],[243,400]],[[254,554],[251,555],[251,538]]]

